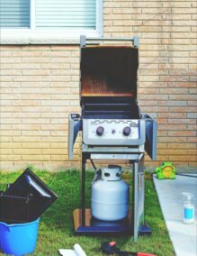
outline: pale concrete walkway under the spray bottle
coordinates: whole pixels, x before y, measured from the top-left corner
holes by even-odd
[[[176,179],[160,180],[154,176],[153,180],[175,255],[197,256],[197,178],[176,175]],[[183,223],[183,192],[194,196],[194,224]]]

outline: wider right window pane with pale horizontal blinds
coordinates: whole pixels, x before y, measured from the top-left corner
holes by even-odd
[[[95,29],[96,0],[36,0],[37,28]]]

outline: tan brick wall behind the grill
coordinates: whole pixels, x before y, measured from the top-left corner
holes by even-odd
[[[196,166],[196,2],[104,1],[104,36],[140,36],[139,105],[157,118],[158,157]],[[78,166],[67,116],[79,108],[79,48],[1,46],[1,169]]]

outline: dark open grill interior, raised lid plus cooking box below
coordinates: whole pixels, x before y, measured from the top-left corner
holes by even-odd
[[[81,106],[84,118],[139,118],[138,48],[81,48]]]

